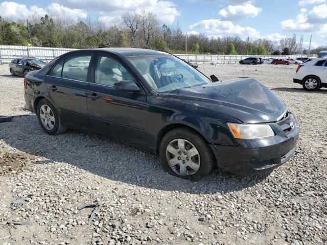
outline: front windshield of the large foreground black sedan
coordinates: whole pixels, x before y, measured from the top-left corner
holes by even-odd
[[[167,54],[126,57],[159,93],[212,83],[197,69]]]

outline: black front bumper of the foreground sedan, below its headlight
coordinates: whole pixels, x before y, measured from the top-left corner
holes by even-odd
[[[294,155],[299,130],[296,125],[287,133],[283,130],[275,133],[275,136],[263,139],[237,140],[237,146],[212,144],[218,167],[244,176],[261,174],[281,166]]]

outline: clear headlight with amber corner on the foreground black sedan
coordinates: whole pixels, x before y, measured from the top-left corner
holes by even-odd
[[[259,139],[274,136],[274,131],[269,125],[251,124],[230,124],[228,123],[233,136],[237,139]]]

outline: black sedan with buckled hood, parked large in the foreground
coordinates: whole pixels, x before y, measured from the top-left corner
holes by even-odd
[[[102,133],[159,154],[166,171],[187,179],[214,167],[271,170],[293,156],[299,134],[293,113],[259,82],[213,82],[159,51],[69,52],[30,72],[24,85],[46,133]]]

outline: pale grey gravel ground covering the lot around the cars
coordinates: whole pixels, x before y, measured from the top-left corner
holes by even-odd
[[[0,244],[327,244],[327,90],[292,82],[296,66],[200,65],[219,79],[252,77],[300,126],[295,156],[270,175],[198,182],[161,170],[158,157],[78,131],[45,134],[22,110],[22,78],[0,66]],[[24,206],[11,210],[17,198]],[[100,212],[88,223],[98,203]],[[29,226],[8,221],[29,221]]]

